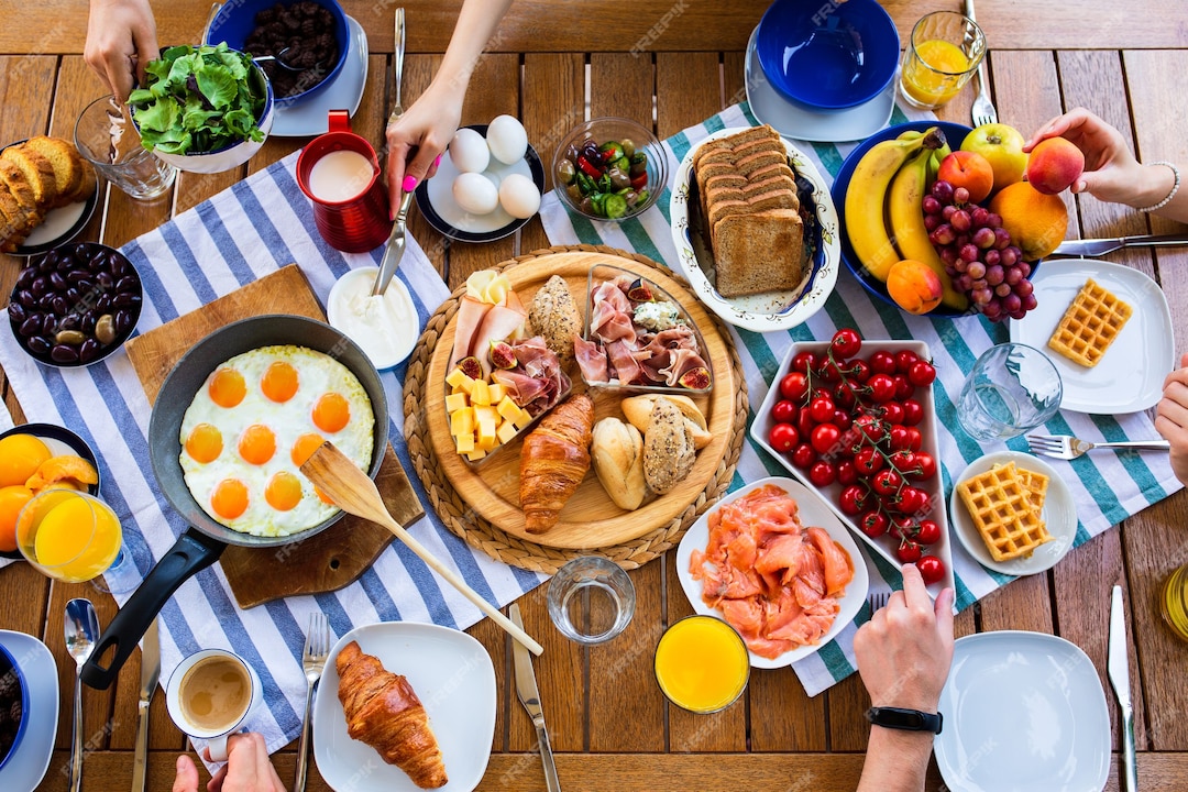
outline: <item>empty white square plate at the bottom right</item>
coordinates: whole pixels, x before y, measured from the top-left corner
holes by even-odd
[[[1043,633],[958,639],[933,743],[954,792],[1101,790],[1110,775],[1110,714],[1093,661]]]

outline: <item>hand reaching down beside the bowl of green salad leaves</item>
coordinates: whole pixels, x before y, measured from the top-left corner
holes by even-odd
[[[148,0],[91,0],[83,59],[124,103],[132,81],[145,82],[145,65],[160,55]]]

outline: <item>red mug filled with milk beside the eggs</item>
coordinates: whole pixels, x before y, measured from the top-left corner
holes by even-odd
[[[392,232],[387,190],[379,158],[350,131],[346,110],[330,110],[330,131],[311,140],[297,158],[297,184],[314,202],[314,222],[331,247],[366,253]]]

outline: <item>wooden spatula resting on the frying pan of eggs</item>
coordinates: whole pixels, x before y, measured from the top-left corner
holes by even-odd
[[[431,570],[446,578],[447,583],[461,591],[467,600],[479,607],[479,610],[487,614],[512,638],[526,646],[532,654],[541,654],[544,651],[544,647],[479,596],[474,589],[466,584],[466,581],[437,560],[399,522],[393,520],[392,515],[387,513],[387,508],[384,507],[384,500],[380,498],[379,490],[375,489],[375,483],[342,451],[334,448],[333,443],[326,442],[314,451],[314,455],[301,467],[301,471],[343,512],[383,525],[394,533]]]

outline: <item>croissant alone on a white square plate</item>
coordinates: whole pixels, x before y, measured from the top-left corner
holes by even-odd
[[[347,734],[379,752],[422,790],[446,786],[446,765],[429,728],[425,708],[409,680],[364,654],[356,641],[339,652],[339,701],[347,716]]]

